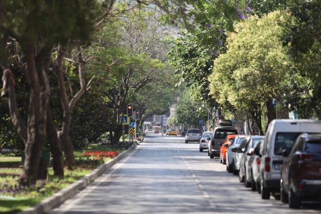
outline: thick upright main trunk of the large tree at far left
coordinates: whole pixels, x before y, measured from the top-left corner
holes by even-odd
[[[44,47],[39,55],[35,56],[35,44],[26,47],[27,71],[31,87],[28,140],[26,143],[26,159],[24,171],[19,178],[19,183],[30,185],[39,178],[38,169],[41,164],[40,155],[44,145],[47,107],[49,102],[49,82],[46,73],[45,61],[51,56],[51,49]]]

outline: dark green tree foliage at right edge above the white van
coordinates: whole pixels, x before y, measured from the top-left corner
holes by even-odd
[[[283,24],[290,29],[282,38],[293,59],[284,101],[300,118],[321,118],[320,8],[320,1],[289,1],[292,16]]]

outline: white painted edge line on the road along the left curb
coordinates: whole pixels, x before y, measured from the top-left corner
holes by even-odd
[[[137,147],[136,147],[137,148]],[[113,170],[111,172],[109,172],[108,174],[106,174],[106,176],[103,176],[103,175],[100,175],[99,177],[97,177],[95,179],[95,181],[102,181],[102,180],[106,180],[108,178],[110,178],[112,176],[112,174],[117,170],[119,169],[123,163],[125,163],[135,152],[137,152],[138,148],[135,149],[129,156],[127,156],[125,159],[122,159],[120,160],[120,162],[117,162],[116,164],[114,164],[114,166],[112,166]],[[109,170],[109,169],[106,169],[106,170]],[[90,185],[90,184],[89,184]],[[72,201],[68,202],[68,204],[66,204],[65,206],[63,207],[58,207],[60,209],[59,214],[63,214],[63,213],[66,213],[67,211],[69,211],[71,208],[73,208],[75,206],[75,204],[77,202],[79,202],[82,198],[84,198],[85,196],[87,196],[91,191],[93,191],[94,189],[98,188],[99,185],[91,185],[91,186],[87,186],[86,188],[84,188],[81,192],[79,197],[73,199]],[[84,192],[85,191],[85,192]],[[78,193],[78,194],[79,194]],[[68,200],[71,200],[72,198],[68,199]],[[54,211],[54,210],[52,210]]]

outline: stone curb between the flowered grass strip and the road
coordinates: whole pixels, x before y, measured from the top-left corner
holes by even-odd
[[[76,195],[79,190],[85,188],[90,182],[94,181],[97,177],[99,177],[106,169],[117,163],[120,159],[122,159],[125,155],[127,155],[130,151],[132,151],[135,147],[132,146],[128,150],[122,152],[121,154],[117,155],[113,159],[101,164],[97,168],[95,168],[89,174],[83,176],[78,181],[70,184],[64,189],[59,190],[52,196],[44,199],[40,203],[36,204],[33,207],[27,208],[19,214],[42,214],[44,212],[51,211],[55,206],[61,204],[62,202],[66,201],[67,199]]]

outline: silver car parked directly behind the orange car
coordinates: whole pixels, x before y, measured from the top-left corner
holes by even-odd
[[[227,153],[226,153],[226,170],[228,172],[233,172],[233,174],[237,175],[239,171],[236,168],[236,158],[235,153],[239,148],[241,142],[247,137],[247,135],[237,135],[233,139]]]

